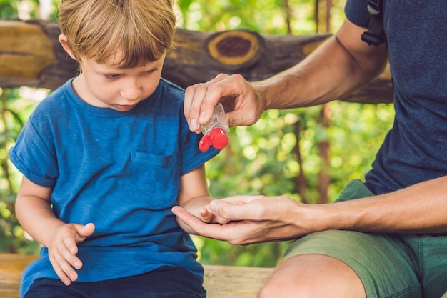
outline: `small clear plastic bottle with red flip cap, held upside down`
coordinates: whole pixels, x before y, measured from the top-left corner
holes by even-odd
[[[200,125],[202,136],[199,149],[201,152],[205,152],[212,146],[214,149],[224,149],[228,144],[228,122],[226,121],[224,106],[220,102],[214,107],[213,114],[206,124]]]

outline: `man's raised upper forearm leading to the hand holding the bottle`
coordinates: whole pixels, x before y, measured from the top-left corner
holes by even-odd
[[[255,82],[266,101],[266,109],[314,106],[350,94],[383,71],[386,48],[361,41],[363,29],[343,24],[300,64],[264,81]],[[358,35],[358,40],[352,36]]]

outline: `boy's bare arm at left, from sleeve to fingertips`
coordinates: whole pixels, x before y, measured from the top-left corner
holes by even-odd
[[[94,225],[66,224],[51,209],[52,189],[34,184],[24,177],[16,199],[16,215],[21,226],[33,239],[48,247],[49,259],[64,284],[77,279],[74,268],[82,262],[76,257],[76,243],[84,241],[94,232]]]

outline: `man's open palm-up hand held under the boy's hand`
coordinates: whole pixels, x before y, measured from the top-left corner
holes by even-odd
[[[313,232],[310,222],[294,214],[306,206],[288,197],[236,196],[211,201],[211,212],[227,219],[227,224],[205,223],[178,206],[172,212],[196,234],[246,245],[293,239]]]

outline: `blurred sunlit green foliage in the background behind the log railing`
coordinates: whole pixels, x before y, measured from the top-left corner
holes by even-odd
[[[18,1],[0,0],[1,19],[17,18]],[[39,1],[29,3],[29,16],[39,15]],[[288,2],[290,18],[287,18]],[[252,29],[261,34],[310,34],[316,31],[313,0],[178,0],[179,26],[191,30]],[[321,1],[323,2],[323,1]],[[333,0],[331,28],[343,21],[344,0]],[[53,1],[54,12],[57,0]],[[321,16],[320,16],[321,19]],[[288,25],[291,30],[288,31]],[[318,26],[318,27],[321,27]],[[29,239],[15,217],[14,200],[19,174],[8,161],[9,149],[36,101],[23,89],[0,89],[0,252],[36,253],[39,244]],[[328,104],[328,124],[320,119],[321,106],[266,111],[253,126],[233,127],[229,144],[206,164],[211,195],[286,195],[297,201],[318,202],[320,174],[330,179],[329,202],[346,183],[362,178],[371,168],[375,152],[393,120],[393,106]],[[329,144],[329,168],[324,167],[319,144]],[[299,157],[298,158],[298,154]],[[301,180],[300,180],[301,179]],[[299,185],[299,187],[298,187]],[[204,264],[273,267],[290,242],[234,247],[226,242],[194,237]]]

